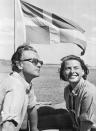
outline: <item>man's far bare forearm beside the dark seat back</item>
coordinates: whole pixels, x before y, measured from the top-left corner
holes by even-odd
[[[38,114],[36,107],[28,109],[30,131],[38,131]]]

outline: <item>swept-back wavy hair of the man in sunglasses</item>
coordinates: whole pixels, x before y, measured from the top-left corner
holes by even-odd
[[[16,72],[20,71],[20,69],[17,66],[17,63],[21,61],[21,57],[22,57],[23,52],[27,51],[27,50],[31,50],[31,51],[37,53],[37,51],[32,46],[28,45],[28,43],[24,43],[23,45],[19,46],[11,58],[13,71],[16,71]]]

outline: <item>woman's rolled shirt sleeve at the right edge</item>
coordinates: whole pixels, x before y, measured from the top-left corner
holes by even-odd
[[[82,99],[81,110],[80,110],[80,121],[89,121],[94,123],[96,120],[96,105],[94,97],[91,93],[86,92]]]

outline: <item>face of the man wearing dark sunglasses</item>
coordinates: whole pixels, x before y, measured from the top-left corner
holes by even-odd
[[[23,60],[22,61],[23,72],[27,74],[27,76],[29,75],[32,78],[34,78],[40,75],[41,64],[39,62],[37,62],[36,64],[36,60],[37,61],[40,60],[37,53],[31,50],[24,51],[21,59]]]

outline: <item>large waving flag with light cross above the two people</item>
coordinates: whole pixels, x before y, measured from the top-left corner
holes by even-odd
[[[20,0],[26,26],[26,42],[36,44],[74,43],[86,50],[84,30],[76,23]]]

